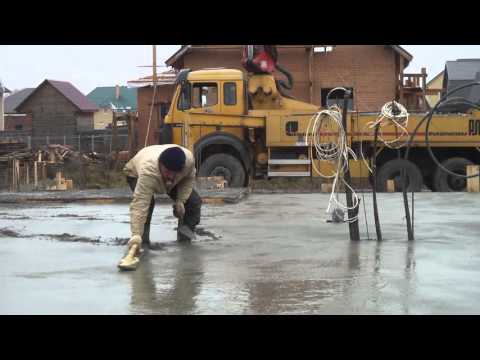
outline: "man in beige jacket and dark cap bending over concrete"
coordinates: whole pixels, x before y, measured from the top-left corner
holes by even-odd
[[[133,191],[130,204],[130,228],[133,245],[150,246],[150,222],[155,207],[154,194],[168,194],[174,201],[173,215],[178,229],[185,225],[193,234],[200,222],[202,200],[193,189],[195,160],[192,153],[177,145],[153,145],[140,150],[124,167]],[[177,240],[190,240],[177,231]]]

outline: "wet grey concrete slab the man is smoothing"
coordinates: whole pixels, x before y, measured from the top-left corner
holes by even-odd
[[[206,204],[190,245],[158,205],[157,250],[132,273],[116,268],[127,204],[0,204],[0,314],[480,313],[480,194],[415,194],[414,242],[400,194],[379,194],[383,242],[370,194],[360,242],[326,222],[328,198]]]

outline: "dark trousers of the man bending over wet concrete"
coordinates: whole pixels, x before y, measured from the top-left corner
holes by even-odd
[[[137,178],[127,176],[127,183],[135,192],[135,187],[137,186]],[[177,200],[177,187],[175,186],[172,191],[168,193],[168,196],[173,201]],[[195,231],[195,226],[200,223],[200,213],[202,207],[202,199],[200,195],[195,191],[192,190],[190,197],[188,198],[187,202],[185,203],[185,216],[183,217],[183,223],[188,225],[188,227]],[[150,201],[150,207],[148,209],[147,220],[145,221],[145,226],[143,228],[143,236],[142,236],[142,244],[150,244],[150,223],[152,221],[152,214],[153,209],[155,208],[155,198],[152,196],[152,200]],[[177,237],[180,240],[180,237]]]

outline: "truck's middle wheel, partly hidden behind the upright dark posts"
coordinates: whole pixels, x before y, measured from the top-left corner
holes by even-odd
[[[423,177],[420,169],[411,161],[395,159],[386,162],[377,175],[377,191],[387,190],[387,180],[395,181],[395,191],[402,191],[402,168],[406,170],[407,191],[422,191]]]

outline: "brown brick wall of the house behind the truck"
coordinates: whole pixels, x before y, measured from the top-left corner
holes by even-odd
[[[278,47],[279,64],[294,78],[291,95],[310,102],[309,51],[305,47]],[[183,67],[242,69],[242,48],[193,48],[183,57]],[[396,54],[384,45],[338,45],[332,52],[313,56],[313,103],[321,105],[321,90],[353,87],[359,111],[379,111],[396,96]],[[277,78],[283,75],[276,74]]]

